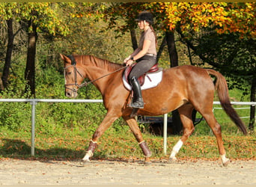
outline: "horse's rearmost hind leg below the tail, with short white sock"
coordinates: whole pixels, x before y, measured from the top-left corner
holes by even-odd
[[[219,155],[222,159],[222,165],[227,166],[229,159],[226,158],[225,148],[222,141],[222,128],[214,117],[212,108],[204,108],[204,112],[200,111],[201,115],[207,121],[210,129],[212,129],[213,134],[216,136],[217,144],[219,147]]]

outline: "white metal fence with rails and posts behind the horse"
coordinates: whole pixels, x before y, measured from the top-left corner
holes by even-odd
[[[35,111],[37,102],[103,102],[103,99],[0,99],[0,102],[30,102],[31,104],[31,156],[34,156],[34,128]],[[256,105],[256,102],[231,102],[232,105]],[[213,102],[213,105],[220,105],[220,102]],[[163,150],[166,154],[167,147],[167,114],[164,114],[163,124]]]

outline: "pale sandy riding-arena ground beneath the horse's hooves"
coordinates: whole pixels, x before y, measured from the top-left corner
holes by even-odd
[[[0,159],[0,185],[256,185],[256,161],[29,161]]]

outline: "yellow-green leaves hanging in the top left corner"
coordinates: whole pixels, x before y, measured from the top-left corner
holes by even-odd
[[[17,22],[31,20],[37,25],[37,32],[47,31],[53,35],[68,33],[68,27],[64,25],[63,16],[58,13],[58,4],[55,3],[1,3],[0,15],[0,19],[16,19]],[[28,28],[28,31],[32,31],[32,28]]]

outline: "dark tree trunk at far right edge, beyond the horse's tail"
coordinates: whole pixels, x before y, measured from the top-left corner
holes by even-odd
[[[256,76],[252,78],[252,88],[251,88],[251,102],[256,101]],[[255,124],[255,105],[251,105],[250,111],[250,122],[249,122],[249,130],[254,131]]]

